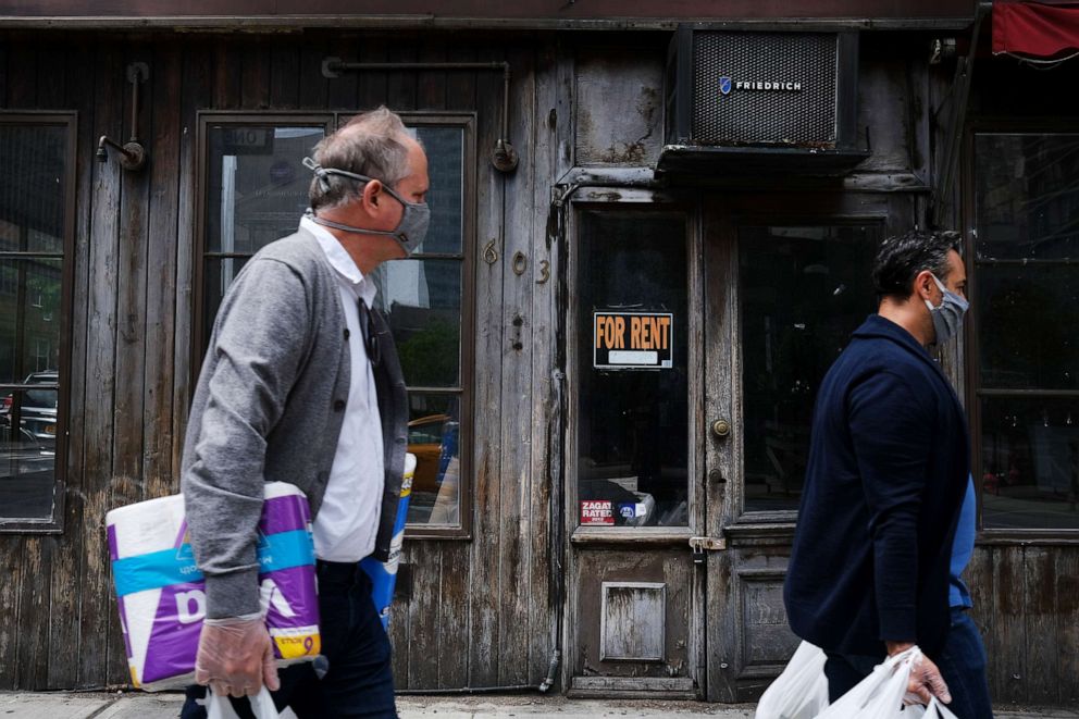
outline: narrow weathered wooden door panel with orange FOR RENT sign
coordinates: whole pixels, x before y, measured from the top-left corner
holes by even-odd
[[[567,680],[704,695],[706,513],[697,206],[587,190],[571,213]]]

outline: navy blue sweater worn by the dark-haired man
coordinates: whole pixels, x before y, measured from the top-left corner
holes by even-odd
[[[969,471],[952,385],[903,327],[871,315],[824,375],[783,598],[794,633],[846,654],[948,621],[952,538]]]

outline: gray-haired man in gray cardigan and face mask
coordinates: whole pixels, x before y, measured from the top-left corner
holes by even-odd
[[[191,402],[181,482],[207,593],[195,679],[234,697],[265,683],[301,719],[393,718],[389,642],[358,561],[388,556],[407,401],[371,272],[423,240],[427,162],[385,108],[313,154],[311,210],[233,282]],[[311,505],[328,661],[318,672],[306,662],[278,677],[260,613],[256,528],[272,481]],[[188,690],[182,717],[206,716],[203,694]]]

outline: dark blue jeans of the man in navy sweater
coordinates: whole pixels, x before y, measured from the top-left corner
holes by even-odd
[[[868,677],[884,657],[867,657],[828,652],[824,675],[828,677],[828,699],[835,702],[855,684]],[[967,612],[952,608],[952,629],[947,633],[940,656],[930,657],[937,662],[947,682],[952,703],[947,708],[958,719],[992,719],[989,701],[989,681],[985,679],[985,648],[978,628]]]

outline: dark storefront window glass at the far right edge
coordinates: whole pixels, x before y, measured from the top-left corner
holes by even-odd
[[[1079,135],[979,134],[976,472],[987,529],[1079,529]]]

